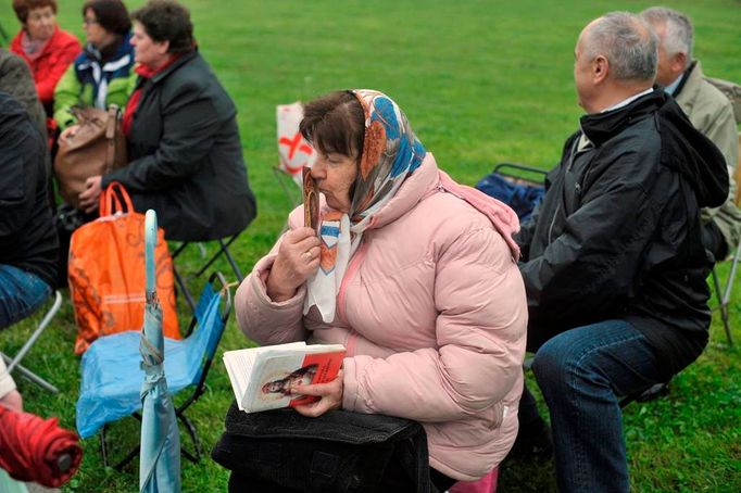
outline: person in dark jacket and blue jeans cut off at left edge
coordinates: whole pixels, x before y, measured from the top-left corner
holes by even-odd
[[[0,92],[0,329],[51,294],[58,239],[45,169],[47,146],[25,109]]]

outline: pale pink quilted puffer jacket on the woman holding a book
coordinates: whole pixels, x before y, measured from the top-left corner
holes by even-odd
[[[239,327],[260,344],[344,344],[343,408],[422,422],[430,466],[470,481],[497,466],[517,434],[527,302],[516,251],[455,187],[427,154],[364,232],[331,324],[316,307],[302,315],[305,288],[285,302],[268,299],[277,245],[236,302]],[[500,230],[518,228],[511,210],[479,202]],[[299,207],[289,226],[302,223]]]

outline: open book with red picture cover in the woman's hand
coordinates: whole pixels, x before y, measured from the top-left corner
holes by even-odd
[[[289,344],[250,347],[224,353],[224,365],[241,410],[277,409],[316,401],[291,392],[297,384],[325,383],[342,367],[341,344]]]

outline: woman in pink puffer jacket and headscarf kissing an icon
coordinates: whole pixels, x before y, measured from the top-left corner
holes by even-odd
[[[517,434],[527,302],[516,215],[440,172],[380,92],[319,98],[300,128],[318,154],[321,238],[303,206],[291,213],[237,292],[241,330],[260,344],[343,344],[340,376],[302,388],[321,400],[297,410],[417,420],[443,485],[482,477]]]

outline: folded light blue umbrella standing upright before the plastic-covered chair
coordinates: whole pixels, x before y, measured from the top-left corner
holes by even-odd
[[[180,432],[175,408],[167,392],[164,369],[162,308],[156,298],[154,245],[156,213],[147,211],[145,219],[145,258],[147,262],[147,306],[141,330],[141,454],[139,456],[140,492],[180,491]]]

